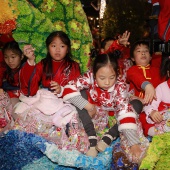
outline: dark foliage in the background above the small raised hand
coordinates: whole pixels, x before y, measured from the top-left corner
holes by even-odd
[[[131,42],[142,38],[149,15],[148,7],[145,0],[109,1],[102,21],[102,37],[116,36],[128,30]]]

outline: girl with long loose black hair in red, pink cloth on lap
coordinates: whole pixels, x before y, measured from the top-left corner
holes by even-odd
[[[61,86],[80,75],[79,64],[71,59],[71,42],[62,31],[52,32],[46,39],[47,55],[36,65],[36,73],[32,78],[35,95],[41,83],[43,88],[61,92]],[[24,54],[30,55],[31,45],[24,47]]]

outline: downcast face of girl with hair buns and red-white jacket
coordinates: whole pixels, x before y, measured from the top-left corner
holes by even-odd
[[[106,65],[97,71],[95,78],[101,89],[108,90],[116,82],[116,73],[110,65]]]

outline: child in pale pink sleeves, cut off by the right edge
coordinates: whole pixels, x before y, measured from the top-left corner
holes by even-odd
[[[161,75],[166,77],[165,82],[156,87],[157,100],[153,100],[151,104],[144,107],[146,120],[151,125],[148,129],[148,135],[170,132],[170,57],[167,56],[161,65]]]

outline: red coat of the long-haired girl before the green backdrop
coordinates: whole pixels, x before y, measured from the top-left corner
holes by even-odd
[[[56,81],[59,83],[59,85],[65,86],[70,80],[74,80],[78,76],[80,76],[80,67],[77,62],[73,62],[70,70],[69,63],[64,64],[64,61],[52,61],[53,77],[51,77],[50,79],[46,79],[46,75],[43,73],[43,63],[39,62],[36,65],[35,75],[33,76],[33,79],[31,81],[31,94],[35,95],[37,93],[40,83],[43,88],[50,88],[51,81]]]

